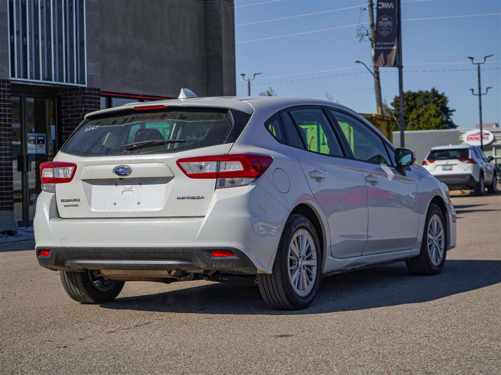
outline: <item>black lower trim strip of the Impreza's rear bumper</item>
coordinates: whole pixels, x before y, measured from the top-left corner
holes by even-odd
[[[40,250],[50,250],[40,255]],[[229,250],[233,256],[213,256],[210,250]],[[41,266],[62,271],[85,269],[217,270],[257,273],[254,263],[240,250],[228,247],[37,247]]]

